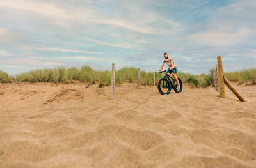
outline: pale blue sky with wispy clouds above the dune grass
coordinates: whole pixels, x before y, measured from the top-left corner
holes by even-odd
[[[256,67],[255,0],[0,0],[0,70]],[[166,67],[164,67],[166,68]]]

